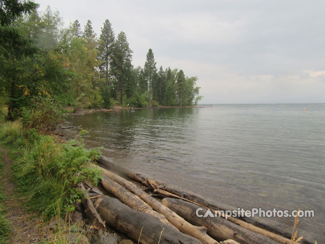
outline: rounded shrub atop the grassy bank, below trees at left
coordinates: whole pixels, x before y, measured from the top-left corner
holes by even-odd
[[[22,112],[22,125],[27,129],[54,129],[63,120],[63,107],[51,98],[36,98]]]

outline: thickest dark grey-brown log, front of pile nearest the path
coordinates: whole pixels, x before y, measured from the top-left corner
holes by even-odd
[[[134,210],[115,198],[102,196],[94,206],[107,225],[135,241],[140,239],[140,243],[202,244],[198,239],[161,223],[154,216]]]

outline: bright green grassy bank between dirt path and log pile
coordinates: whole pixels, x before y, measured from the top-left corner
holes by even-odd
[[[0,141],[13,159],[15,183],[25,205],[44,220],[74,209],[73,203],[82,197],[79,182],[99,180],[99,170],[90,166],[99,151],[86,150],[78,141],[58,143],[53,136],[24,129],[19,121],[0,125]]]

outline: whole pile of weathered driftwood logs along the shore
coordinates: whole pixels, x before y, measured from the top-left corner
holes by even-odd
[[[110,196],[91,188],[96,196],[83,200],[86,210],[102,228],[108,225],[137,243],[295,243],[243,220],[225,218],[222,212],[221,217],[199,218],[199,207],[203,215],[208,209],[213,213],[219,209],[199,195],[128,172],[105,157],[98,164],[103,170],[103,192]]]

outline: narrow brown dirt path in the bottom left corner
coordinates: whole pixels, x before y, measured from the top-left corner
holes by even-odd
[[[44,228],[45,224],[35,214],[31,214],[22,207],[21,199],[19,199],[16,193],[11,160],[7,155],[7,150],[0,147],[0,154],[4,164],[2,176],[0,176],[1,185],[6,196],[4,205],[7,207],[7,216],[12,229],[9,236],[10,243],[39,243],[45,240],[48,235],[46,228]]]

